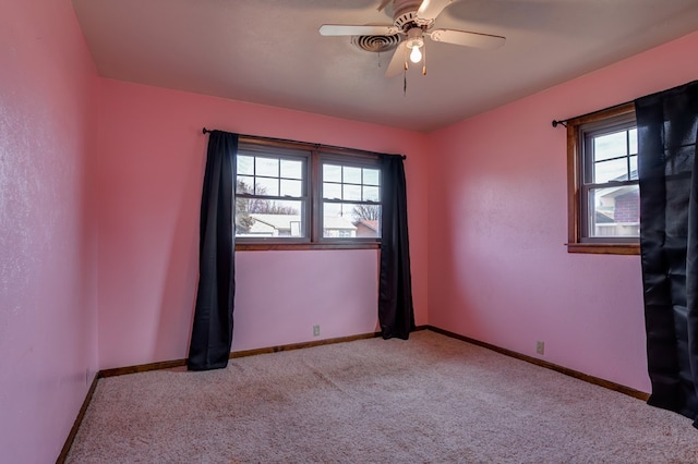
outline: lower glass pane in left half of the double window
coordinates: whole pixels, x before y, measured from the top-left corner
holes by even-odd
[[[302,237],[302,202],[278,202],[258,198],[236,199],[236,236]]]

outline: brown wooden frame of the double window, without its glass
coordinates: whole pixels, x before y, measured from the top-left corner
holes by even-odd
[[[322,162],[330,160],[337,164],[375,168],[381,171],[381,187],[383,187],[383,171],[381,169],[381,154],[352,148],[332,147],[303,142],[276,138],[240,136],[238,151],[257,151],[260,156],[275,158],[301,158],[306,154],[303,192],[306,198],[305,236],[303,237],[245,237],[236,236],[236,251],[279,251],[279,249],[378,249],[381,237],[323,237],[322,216]],[[296,154],[293,154],[296,152]],[[244,155],[244,152],[243,152]],[[236,160],[237,163],[237,155]],[[237,170],[233,187],[237,188]],[[382,198],[381,192],[381,199]],[[380,203],[382,205],[382,202]],[[233,232],[234,233],[234,232]]]

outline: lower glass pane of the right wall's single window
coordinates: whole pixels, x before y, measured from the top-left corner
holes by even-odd
[[[639,236],[640,192],[637,185],[589,192],[589,236]]]

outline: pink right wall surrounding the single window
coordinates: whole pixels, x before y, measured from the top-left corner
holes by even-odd
[[[565,119],[698,78],[698,33],[430,134],[430,323],[649,391],[638,256],[568,254]],[[436,162],[437,161],[437,162]]]

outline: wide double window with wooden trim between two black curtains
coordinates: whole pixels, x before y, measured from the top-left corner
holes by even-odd
[[[236,247],[377,247],[378,155],[241,137]]]

